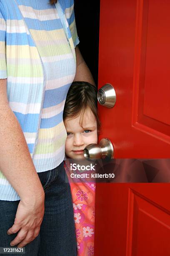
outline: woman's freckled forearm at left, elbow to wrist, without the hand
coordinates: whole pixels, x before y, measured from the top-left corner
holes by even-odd
[[[21,199],[43,195],[23,131],[8,104],[0,104],[0,170]]]

